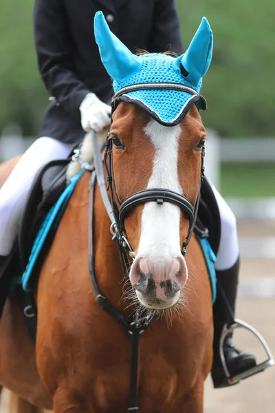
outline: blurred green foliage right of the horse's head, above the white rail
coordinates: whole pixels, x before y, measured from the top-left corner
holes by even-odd
[[[214,34],[203,81],[206,125],[221,136],[274,136],[275,2],[178,0],[186,47],[202,16]]]

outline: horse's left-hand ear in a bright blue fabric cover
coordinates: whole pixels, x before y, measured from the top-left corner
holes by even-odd
[[[101,61],[115,81],[120,83],[140,70],[142,59],[130,52],[111,32],[102,12],[96,12],[94,17],[94,33]]]

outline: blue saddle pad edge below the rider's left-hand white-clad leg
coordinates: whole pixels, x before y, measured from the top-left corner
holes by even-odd
[[[36,239],[34,240],[34,245],[32,246],[32,251],[30,253],[28,265],[26,266],[21,279],[23,290],[25,290],[27,293],[33,292],[32,287],[29,285],[30,277],[32,275],[37,257],[39,256],[39,253],[43,248],[47,235],[52,227],[58,226],[67,203],[69,202],[69,198],[71,198],[74,188],[76,187],[76,184],[78,183],[78,180],[82,175],[83,171],[80,171],[77,175],[71,178],[69,185],[63,191],[56,204],[54,204],[54,206],[47,213],[45,220],[43,221],[43,224],[41,225],[39,232],[36,235]]]

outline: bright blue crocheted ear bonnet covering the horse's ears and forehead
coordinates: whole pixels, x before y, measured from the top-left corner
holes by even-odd
[[[177,58],[160,53],[135,56],[109,30],[102,12],[96,13],[94,28],[102,63],[113,77],[113,108],[121,100],[133,103],[166,126],[180,123],[193,103],[198,109],[206,109],[206,100],[199,89],[212,57],[212,31],[205,18],[186,53]],[[184,91],[158,89],[155,88],[158,85],[154,85],[154,89],[121,90],[146,83],[186,85],[187,88]]]

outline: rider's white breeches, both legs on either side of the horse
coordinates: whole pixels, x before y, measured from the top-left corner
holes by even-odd
[[[67,158],[73,148],[72,143],[43,137],[37,139],[19,160],[0,189],[0,255],[8,255],[12,250],[19,231],[21,213],[36,173],[51,160]],[[217,270],[226,270],[235,264],[239,256],[236,219],[213,184],[211,187],[221,217],[221,240],[215,267]]]

